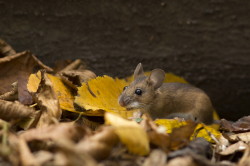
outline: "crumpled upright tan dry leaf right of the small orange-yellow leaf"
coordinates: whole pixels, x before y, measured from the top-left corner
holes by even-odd
[[[60,119],[62,110],[56,92],[52,87],[50,79],[44,72],[41,72],[41,82],[33,96],[41,111],[37,127],[53,124]]]

